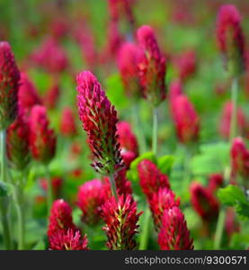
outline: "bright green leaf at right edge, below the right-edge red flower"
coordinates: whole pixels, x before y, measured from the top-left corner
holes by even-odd
[[[237,202],[248,203],[245,193],[236,185],[228,184],[218,190],[218,199],[227,206],[235,206]]]

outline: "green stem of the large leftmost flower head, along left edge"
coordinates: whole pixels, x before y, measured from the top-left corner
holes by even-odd
[[[1,180],[7,182],[7,162],[6,162],[6,130],[1,130],[0,134],[0,147],[1,147]],[[11,249],[12,241],[9,229],[8,220],[9,198],[3,197],[0,200],[0,211],[2,212],[2,226],[4,233],[4,245],[6,249]]]

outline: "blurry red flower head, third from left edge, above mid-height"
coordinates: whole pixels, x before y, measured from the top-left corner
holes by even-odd
[[[47,164],[55,156],[56,137],[49,129],[49,120],[45,107],[33,106],[31,110],[30,146],[32,157]]]

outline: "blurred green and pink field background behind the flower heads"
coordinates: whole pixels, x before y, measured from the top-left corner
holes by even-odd
[[[105,0],[0,1],[0,40],[10,42],[18,67],[31,78],[48,108],[51,127],[58,133],[57,157],[51,162],[50,171],[63,183],[60,197],[74,205],[78,186],[98,176],[89,166],[90,153],[77,116],[78,72],[89,69],[99,78],[120,120],[129,121],[137,134],[142,129],[147,150],[150,150],[151,110],[147,101],[141,99],[138,123],[135,103],[125,94],[117,65],[121,41],[132,40],[133,31],[143,24],[149,24],[154,28],[160,49],[167,57],[167,85],[179,76],[178,63],[182,56],[190,53],[194,61],[193,72],[184,79],[183,88],[200,115],[200,140],[186,158],[186,148],[175,137],[168,103],[165,101],[159,107],[158,155],[173,155],[175,158],[171,175],[172,188],[181,197],[189,229],[192,237],[196,237],[195,247],[212,248],[212,239],[200,237],[201,220],[191,208],[189,182],[182,182],[182,170],[188,162],[191,179],[207,184],[208,176],[222,172],[228,163],[228,143],[220,134],[219,125],[224,103],[230,98],[230,83],[218,51],[215,32],[218,7],[225,3],[236,4],[243,18],[245,40],[248,40],[248,0],[134,0],[134,22],[129,23],[129,20],[124,19],[117,33],[111,29],[110,9]],[[43,46],[46,47],[46,42],[55,42],[57,49],[44,64],[37,55]],[[52,91],[55,84],[58,89]],[[248,100],[249,79],[245,75],[241,78],[239,105],[247,119]],[[77,135],[73,139],[64,138],[59,130],[61,113],[65,107],[75,112]],[[187,152],[190,152],[189,149]],[[46,247],[46,203],[45,191],[40,184],[42,177],[42,167],[37,164],[31,166],[26,187],[31,205],[27,214],[27,243],[31,248]],[[144,197],[138,182],[133,182],[133,187],[139,205],[139,200]],[[77,208],[74,209],[74,218],[80,222],[80,211]],[[103,248],[105,236],[101,233],[101,227],[86,230],[92,237],[93,243],[90,246]],[[249,243],[248,236],[248,228],[242,229],[240,233],[234,234],[232,240],[227,240],[226,247],[245,248],[246,243],[247,246]],[[149,247],[156,247],[153,240]]]

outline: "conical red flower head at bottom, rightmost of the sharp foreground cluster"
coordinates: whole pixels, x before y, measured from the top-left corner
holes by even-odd
[[[162,228],[158,234],[161,250],[192,250],[193,240],[182,211],[173,206],[165,210]]]

